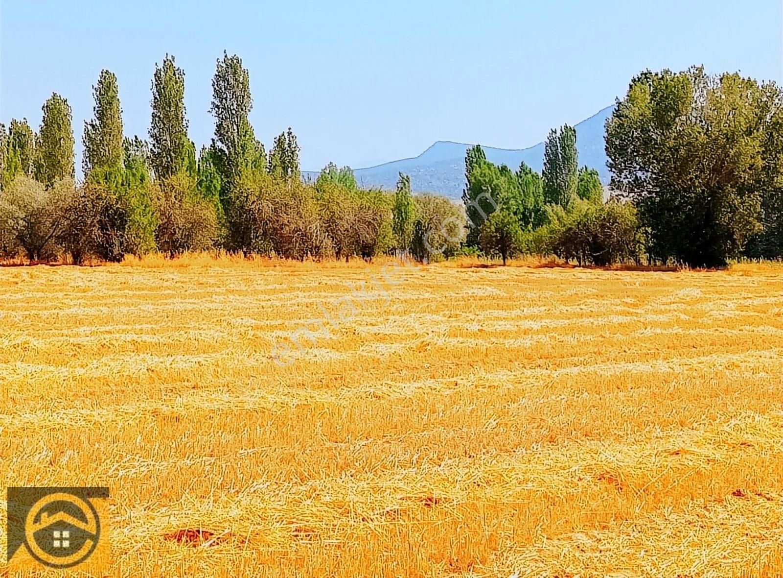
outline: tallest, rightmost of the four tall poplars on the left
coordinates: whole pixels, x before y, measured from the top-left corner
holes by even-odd
[[[250,74],[239,56],[224,52],[212,79],[210,112],[215,116],[212,147],[226,201],[247,172],[265,172],[264,147],[255,139],[250,124],[252,108]]]

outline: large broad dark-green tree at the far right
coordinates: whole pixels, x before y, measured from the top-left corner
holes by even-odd
[[[721,266],[763,231],[765,191],[781,189],[770,142],[781,90],[703,68],[646,71],[606,125],[612,186],[637,204],[652,257]]]

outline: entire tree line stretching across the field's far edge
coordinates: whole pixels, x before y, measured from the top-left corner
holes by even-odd
[[[250,78],[224,53],[212,80],[215,135],[189,139],[185,73],[155,67],[149,139],[124,135],[117,78],[103,70],[76,182],[70,106],[53,94],[38,132],[0,125],[0,257],[119,261],[221,248],[284,258],[427,262],[453,255],[557,255],[579,265],[720,266],[783,255],[783,97],[774,83],[702,68],[646,71],[606,124],[612,182],[579,168],[576,131],[550,132],[543,171],[467,150],[463,204],[364,189],[350,168],[301,178],[290,128],[269,153],[249,120]]]

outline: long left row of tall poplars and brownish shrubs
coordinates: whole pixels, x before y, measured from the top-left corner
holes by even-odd
[[[78,186],[66,99],[55,94],[47,100],[37,133],[27,121],[14,120],[8,130],[0,125],[0,253],[81,263],[215,247],[346,259],[415,249],[426,259],[460,246],[459,208],[442,197],[413,197],[402,175],[396,193],[363,190],[350,168],[334,164],[316,182],[302,182],[290,128],[267,154],[249,120],[250,79],[238,56],[218,60],[215,137],[198,154],[184,95],[185,74],[166,56],[153,76],[149,140],[127,138],[117,78],[103,70],[84,126]],[[402,212],[401,199],[407,204]]]

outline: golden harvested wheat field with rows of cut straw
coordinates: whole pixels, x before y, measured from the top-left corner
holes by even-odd
[[[2,267],[0,478],[108,576],[783,575],[783,269],[470,265]]]

